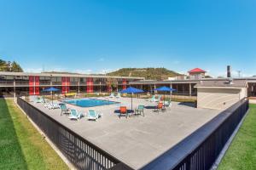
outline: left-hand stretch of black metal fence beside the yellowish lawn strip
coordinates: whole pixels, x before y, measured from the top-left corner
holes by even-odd
[[[131,167],[126,166],[95,144],[91,144],[79,134],[56,122],[43,111],[30,105],[24,99],[18,98],[17,103],[55,146],[61,150],[62,154],[78,169],[119,169],[119,167],[131,169]]]

